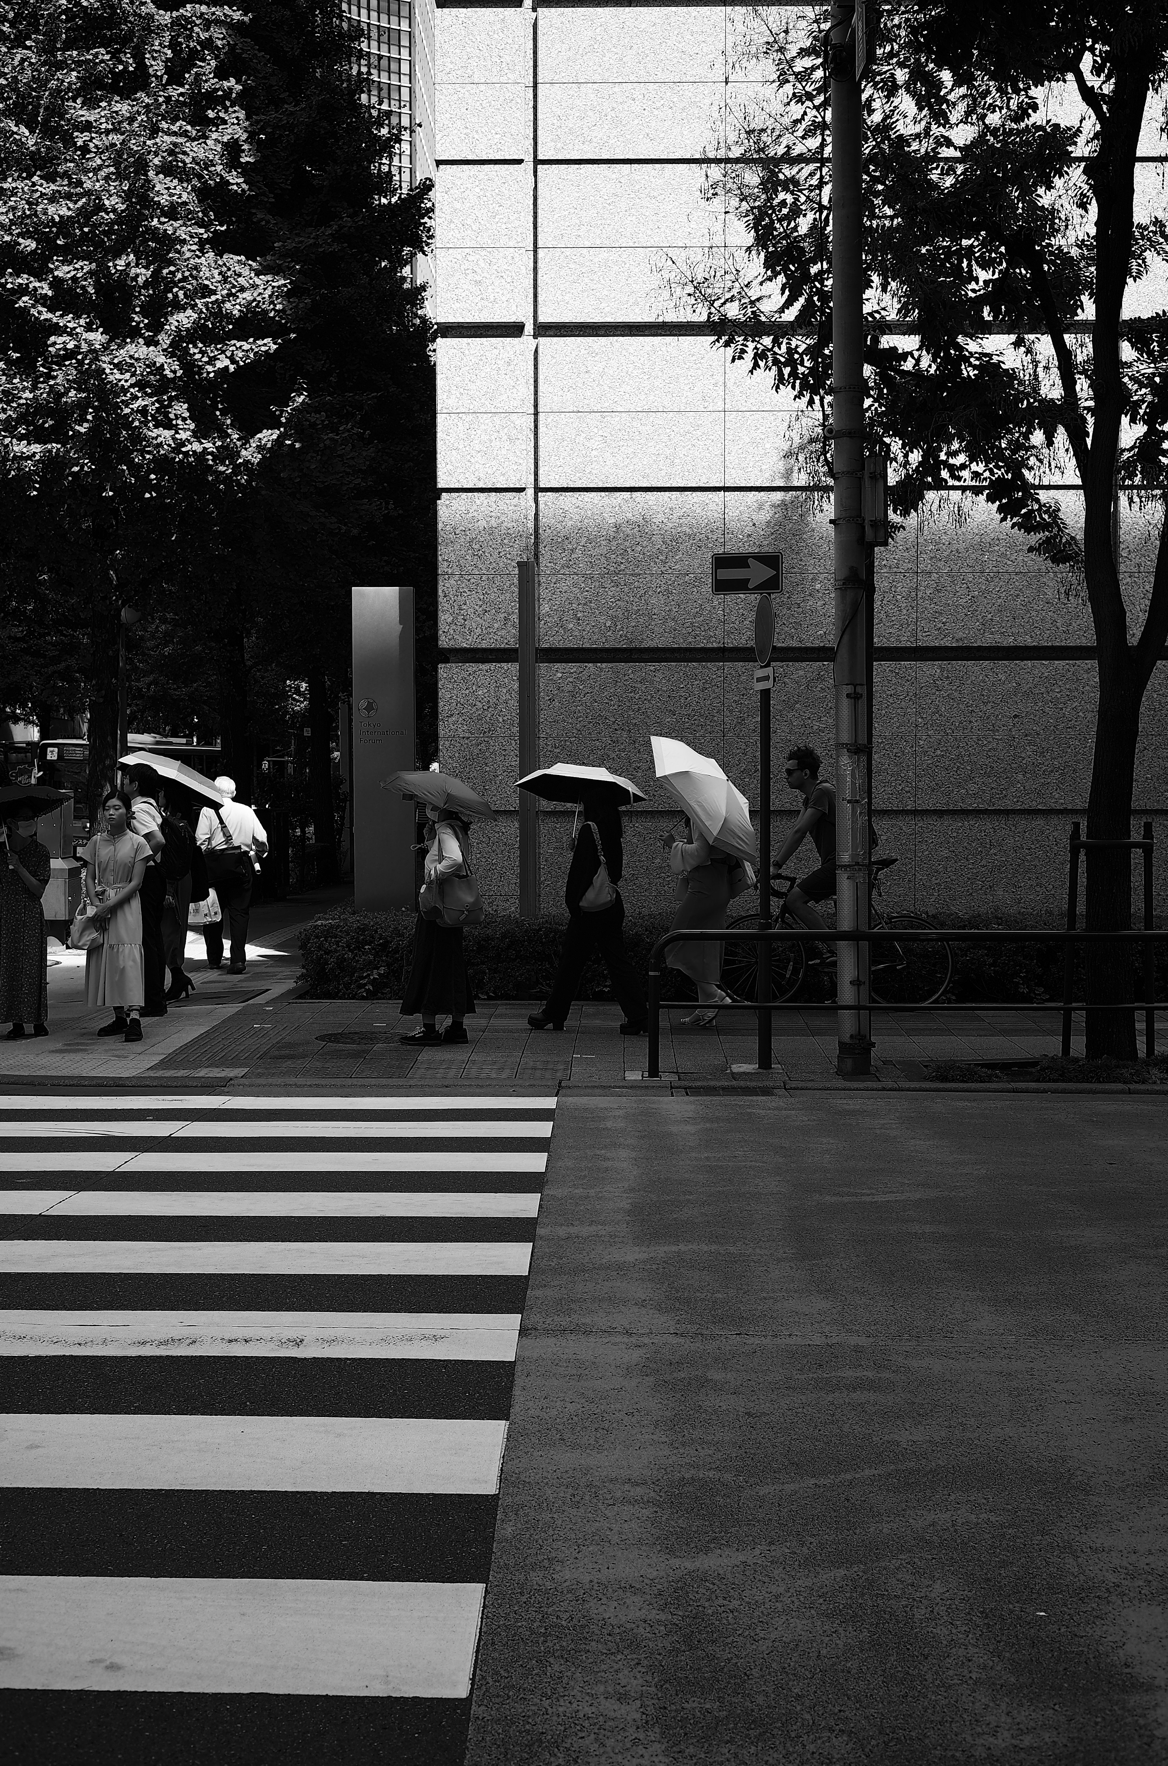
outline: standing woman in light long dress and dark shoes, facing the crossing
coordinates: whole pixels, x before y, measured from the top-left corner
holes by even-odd
[[[102,814],[106,834],[95,834],[78,848],[85,865],[81,888],[97,904],[94,918],[104,932],[101,945],[85,955],[85,1000],[86,1005],[113,1007],[113,1019],[102,1024],[99,1037],[124,1035],[127,1042],[141,1042],[146,977],[138,892],[150,848],[141,834],[129,832],[131,800],[125,791],[111,791]]]

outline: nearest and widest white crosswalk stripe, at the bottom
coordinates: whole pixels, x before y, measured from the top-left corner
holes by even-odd
[[[0,1687],[466,1699],[480,1582],[0,1577]]]

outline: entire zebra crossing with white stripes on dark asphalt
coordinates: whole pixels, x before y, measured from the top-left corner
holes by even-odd
[[[554,1106],[4,1098],[5,1759],[460,1761]]]

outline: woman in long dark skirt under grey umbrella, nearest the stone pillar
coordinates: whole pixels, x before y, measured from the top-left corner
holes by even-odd
[[[401,791],[425,804],[425,883],[471,876],[471,816],[494,819],[490,804],[460,779],[441,772],[399,772],[381,781],[383,789]],[[475,994],[466,973],[462,927],[425,918],[418,909],[413,929],[413,962],[402,996],[402,1017],[422,1014],[422,1030],[399,1037],[408,1047],[469,1042],[466,1015]],[[450,1023],[439,1031],[438,1019]]]

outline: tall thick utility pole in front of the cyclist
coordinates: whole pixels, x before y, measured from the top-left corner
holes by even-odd
[[[861,104],[852,25],[831,9],[831,429],[836,696],[836,925],[868,927],[868,592],[865,570],[865,325]],[[836,945],[836,1072],[872,1072],[866,947]]]

